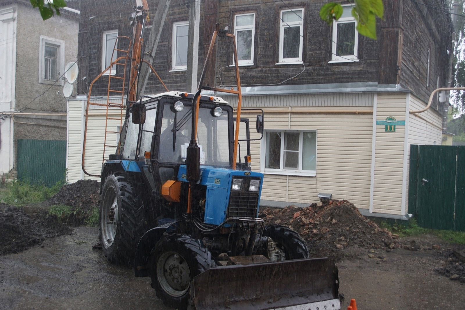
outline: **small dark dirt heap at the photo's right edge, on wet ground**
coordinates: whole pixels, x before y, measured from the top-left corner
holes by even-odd
[[[465,247],[446,249],[443,255],[442,267],[436,268],[435,271],[451,280],[465,283]]]

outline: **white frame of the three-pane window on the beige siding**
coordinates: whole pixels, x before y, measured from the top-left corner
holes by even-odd
[[[281,148],[280,148],[280,164],[279,169],[265,168],[266,165],[266,134],[268,132],[279,132],[281,134]],[[302,169],[302,154],[303,154],[303,133],[315,133],[315,170]],[[299,133],[299,168],[298,169],[284,169],[284,134],[285,133]],[[298,176],[316,176],[316,164],[318,154],[318,130],[305,129],[305,130],[292,130],[292,129],[266,129],[263,132],[263,139],[260,145],[260,172],[270,175],[298,175]]]

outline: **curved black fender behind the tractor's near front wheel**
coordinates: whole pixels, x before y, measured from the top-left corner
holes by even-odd
[[[137,244],[136,253],[134,256],[134,276],[143,277],[150,276],[149,274],[149,263],[150,263],[150,252],[152,251],[155,244],[161,239],[161,236],[165,233],[166,230],[170,229],[177,221],[166,223],[149,229],[146,231],[144,236],[140,238],[139,243]],[[177,230],[177,229],[176,229]]]

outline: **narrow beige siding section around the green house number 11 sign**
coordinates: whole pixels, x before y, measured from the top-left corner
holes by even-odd
[[[405,120],[406,97],[405,93],[378,94],[376,120],[388,116]],[[404,143],[405,126],[397,125],[395,132],[376,126],[372,212],[401,215]]]

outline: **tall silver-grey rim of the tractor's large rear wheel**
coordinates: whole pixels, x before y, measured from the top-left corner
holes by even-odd
[[[118,225],[118,215],[118,198],[113,187],[110,187],[106,190],[103,198],[100,223],[102,227],[102,242],[106,248],[113,244]]]

